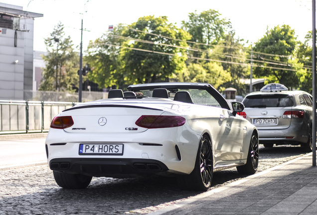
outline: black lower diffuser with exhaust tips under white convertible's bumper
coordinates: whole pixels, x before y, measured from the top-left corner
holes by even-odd
[[[55,158],[50,160],[49,167],[54,171],[96,177],[124,177],[168,171],[167,166],[158,160],[127,158]]]

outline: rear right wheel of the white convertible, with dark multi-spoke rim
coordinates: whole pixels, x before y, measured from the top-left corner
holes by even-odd
[[[189,175],[178,175],[179,186],[184,190],[206,191],[211,186],[213,175],[213,154],[211,141],[203,135],[195,160],[195,167]]]

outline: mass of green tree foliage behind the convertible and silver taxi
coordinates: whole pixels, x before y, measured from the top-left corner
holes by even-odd
[[[299,43],[295,30],[285,24],[267,29],[253,48],[254,77],[309,89],[311,74],[303,65],[311,61],[310,38],[307,35],[307,41]],[[189,13],[181,29],[166,16],[144,16],[131,25],[120,24],[90,42],[85,60],[92,68],[89,79],[103,88],[172,79],[208,82],[220,92],[233,87],[244,95],[240,79],[249,77],[251,58],[244,46],[230,20],[210,9]]]

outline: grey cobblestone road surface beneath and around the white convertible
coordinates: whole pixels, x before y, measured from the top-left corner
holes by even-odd
[[[259,171],[306,154],[300,147],[260,148]],[[214,173],[210,189],[243,176],[235,168]],[[147,214],[201,192],[178,189],[175,178],[93,178],[87,189],[59,188],[46,165],[0,171],[0,215]]]

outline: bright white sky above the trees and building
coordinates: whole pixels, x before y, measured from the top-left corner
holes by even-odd
[[[312,0],[0,0],[2,3],[23,6],[23,10],[42,13],[34,21],[34,50],[45,51],[44,39],[61,21],[65,35],[71,36],[75,47],[80,45],[81,19],[83,50],[89,40],[95,40],[109,25],[131,24],[146,15],[165,15],[180,26],[189,12],[218,10],[230,19],[236,35],[245,41],[256,42],[276,25],[288,24],[304,42],[312,30]],[[28,7],[27,7],[28,5]],[[87,12],[85,12],[87,11]],[[80,14],[84,13],[84,14]]]

